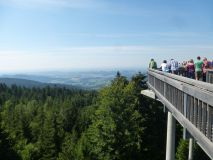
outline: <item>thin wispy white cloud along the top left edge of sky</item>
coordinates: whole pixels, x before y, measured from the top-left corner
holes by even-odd
[[[152,10],[141,6],[130,8],[120,2],[108,0],[0,0],[0,5],[9,5],[21,8],[73,8],[73,9],[97,9],[99,12],[111,15],[123,16],[156,16]],[[154,15],[153,15],[154,14]]]

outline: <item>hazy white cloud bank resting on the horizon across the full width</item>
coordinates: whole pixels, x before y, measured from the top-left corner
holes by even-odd
[[[70,47],[46,51],[0,51],[0,71],[146,67],[150,58],[178,61],[212,58],[213,45]]]

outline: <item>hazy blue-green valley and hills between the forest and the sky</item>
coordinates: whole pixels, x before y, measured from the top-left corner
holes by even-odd
[[[127,78],[144,70],[121,70]],[[16,84],[24,87],[44,87],[47,85],[58,87],[78,87],[85,89],[100,89],[111,83],[117,71],[70,71],[70,72],[41,72],[27,74],[4,74],[0,76],[0,83],[8,86]]]

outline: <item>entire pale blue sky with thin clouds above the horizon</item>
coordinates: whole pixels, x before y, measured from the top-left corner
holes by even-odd
[[[0,71],[213,59],[212,0],[0,0]]]

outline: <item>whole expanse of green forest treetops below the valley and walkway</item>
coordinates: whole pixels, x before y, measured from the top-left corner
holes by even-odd
[[[140,95],[145,78],[138,73],[128,80],[118,72],[99,92],[0,84],[0,147],[6,146],[0,157],[164,159],[165,115],[159,103]]]

